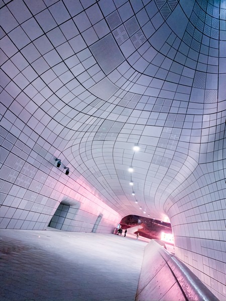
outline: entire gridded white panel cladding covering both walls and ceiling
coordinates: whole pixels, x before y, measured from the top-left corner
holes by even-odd
[[[146,210],[170,219],[176,255],[222,298],[225,1],[0,8],[0,226],[45,229],[66,200],[79,204],[73,231],[102,215],[110,233]]]

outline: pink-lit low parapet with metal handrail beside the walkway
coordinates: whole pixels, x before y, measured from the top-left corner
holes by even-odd
[[[156,241],[145,247],[136,301],[219,301],[189,268]]]

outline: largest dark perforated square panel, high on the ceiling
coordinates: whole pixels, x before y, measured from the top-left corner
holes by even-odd
[[[125,60],[112,34],[100,39],[89,49],[105,74],[115,70]]]

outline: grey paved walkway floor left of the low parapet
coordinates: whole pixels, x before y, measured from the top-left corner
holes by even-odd
[[[134,301],[146,245],[114,234],[1,229],[0,299]]]

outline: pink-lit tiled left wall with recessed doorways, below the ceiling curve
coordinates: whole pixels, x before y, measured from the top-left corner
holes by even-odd
[[[1,228],[45,230],[59,204],[66,202],[72,207],[76,203],[80,206],[64,230],[91,232],[102,214],[96,232],[114,231],[121,215],[98,199],[82,178],[65,175],[63,164],[57,168],[56,157],[50,153],[53,147],[47,151],[31,137],[23,143],[3,127],[0,137]],[[60,158],[67,162],[62,155]]]

